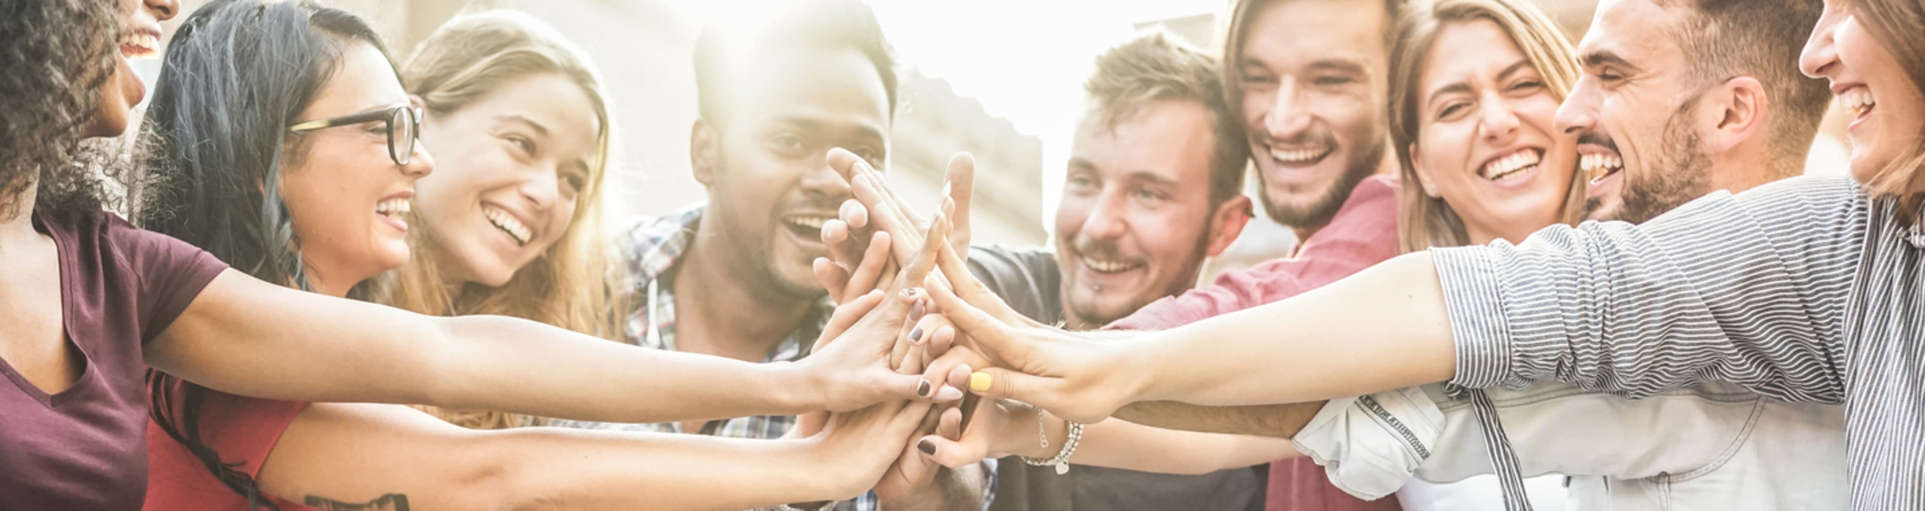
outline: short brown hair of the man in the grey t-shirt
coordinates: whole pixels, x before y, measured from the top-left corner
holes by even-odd
[[[1209,54],[1176,42],[1163,31],[1145,33],[1097,56],[1095,73],[1084,83],[1084,92],[1109,125],[1157,100],[1201,104],[1209,111],[1215,146],[1209,165],[1209,204],[1217,207],[1242,192],[1249,144],[1244,142],[1244,125],[1224,100],[1222,75],[1217,73],[1217,60]]]

